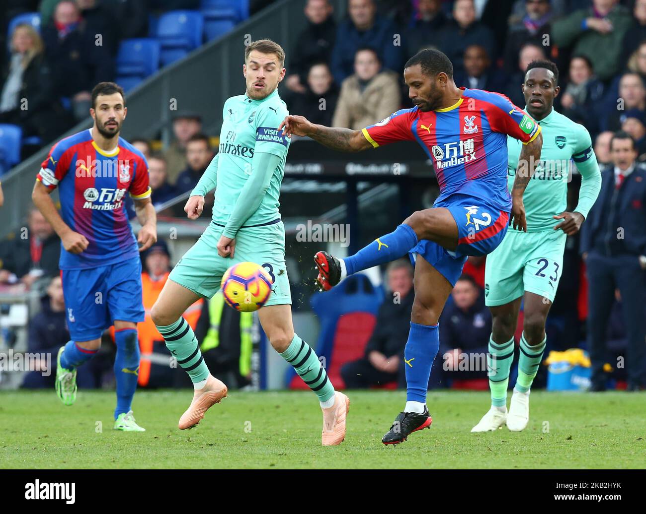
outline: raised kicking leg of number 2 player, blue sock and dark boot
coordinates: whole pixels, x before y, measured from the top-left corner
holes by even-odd
[[[318,252],[314,259],[318,268],[318,286],[322,291],[329,291],[348,275],[395,261],[415,248],[421,239],[453,249],[451,246],[457,241],[457,226],[448,209],[440,207],[414,212],[395,232],[377,237],[355,255],[343,259]]]

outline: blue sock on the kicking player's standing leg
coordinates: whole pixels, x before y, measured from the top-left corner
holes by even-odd
[[[404,350],[406,368],[406,401],[426,403],[431,366],[440,348],[439,324],[420,325],[410,322]]]

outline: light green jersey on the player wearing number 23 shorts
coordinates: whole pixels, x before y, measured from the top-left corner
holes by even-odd
[[[524,110],[529,114],[526,107]],[[567,183],[572,161],[576,165],[594,156],[590,134],[583,125],[574,123],[553,108],[537,123],[543,131],[543,148],[536,172],[523,195],[527,232],[552,230],[559,223],[552,216],[567,208]],[[510,192],[516,179],[522,146],[518,139],[507,137],[507,184]],[[509,230],[514,228],[510,226]]]

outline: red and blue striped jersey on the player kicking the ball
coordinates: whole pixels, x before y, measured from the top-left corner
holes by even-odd
[[[498,93],[460,88],[461,99],[445,109],[402,109],[362,130],[377,148],[395,141],[417,141],[433,163],[440,186],[435,203],[460,193],[487,199],[509,212],[507,135],[532,141],[541,127]]]

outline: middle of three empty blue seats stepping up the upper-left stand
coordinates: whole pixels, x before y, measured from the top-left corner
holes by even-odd
[[[202,44],[204,18],[197,11],[179,10],[160,17],[157,39],[161,44],[161,64],[165,66],[185,57]]]

